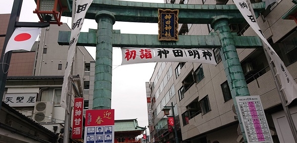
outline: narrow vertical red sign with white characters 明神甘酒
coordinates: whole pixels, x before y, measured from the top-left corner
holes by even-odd
[[[75,98],[73,107],[72,139],[82,139],[84,98]]]

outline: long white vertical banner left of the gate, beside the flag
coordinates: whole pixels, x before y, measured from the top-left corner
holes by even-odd
[[[85,15],[87,13],[88,8],[90,7],[93,0],[76,0],[76,11],[73,19],[73,24],[71,28],[71,36],[69,41],[69,49],[67,56],[66,69],[64,72],[64,80],[62,85],[62,94],[61,94],[61,102],[60,105],[63,108],[66,108],[66,95],[68,93],[68,77],[71,72],[72,60],[76,48],[76,43],[78,40],[78,36],[82,29]]]

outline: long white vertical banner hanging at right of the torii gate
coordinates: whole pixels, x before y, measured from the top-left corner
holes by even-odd
[[[254,17],[252,16],[250,9],[247,4],[247,0],[233,0],[235,5],[242,13],[244,18],[247,20],[247,23],[250,27],[256,32],[256,34],[268,45],[268,49],[266,49],[268,55],[271,58],[271,61],[274,63],[276,67],[277,74],[280,76],[281,83],[282,83],[282,90],[286,93],[288,103],[287,106],[297,98],[297,84],[294,81],[292,75],[288,72],[287,68],[285,67],[284,62],[280,59],[280,57],[276,54],[274,49],[268,43],[266,38],[264,37],[261,29],[259,28],[258,24],[256,23]]]

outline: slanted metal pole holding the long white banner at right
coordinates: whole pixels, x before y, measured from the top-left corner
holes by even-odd
[[[250,10],[252,16],[254,17],[255,22],[258,24],[258,20],[257,20],[257,18],[256,18],[256,16],[255,16],[255,13],[254,13],[254,10],[253,10],[253,8],[252,8],[252,5],[251,5],[250,0],[247,0],[247,4],[248,4],[249,10]],[[276,86],[278,95],[279,95],[279,97],[280,97],[280,99],[281,99],[281,103],[282,103],[282,106],[283,106],[283,108],[284,108],[284,112],[285,112],[286,118],[287,118],[287,120],[288,120],[290,129],[291,129],[291,131],[292,131],[292,134],[293,134],[295,143],[297,143],[297,131],[296,131],[296,127],[295,127],[295,124],[294,124],[294,121],[293,121],[291,112],[290,112],[290,110],[289,110],[289,107],[286,106],[285,95],[284,95],[283,92],[281,92],[281,86],[280,86],[280,83],[279,83],[278,79],[276,78],[276,73],[275,73],[275,71],[274,71],[272,62],[270,62],[271,60],[270,60],[270,58],[269,58],[269,56],[268,56],[268,54],[267,54],[267,51],[266,51],[268,45],[266,45],[266,43],[264,43],[262,39],[261,39],[261,42],[262,42],[262,45],[263,45],[263,49],[264,49],[264,53],[265,53],[266,59],[267,59],[268,64],[269,64],[270,71],[271,71],[272,76],[273,76],[273,79],[274,79],[274,83],[275,83],[275,86]]]

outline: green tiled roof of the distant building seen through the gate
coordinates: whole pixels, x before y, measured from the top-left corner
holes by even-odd
[[[136,119],[114,120],[114,132],[144,131],[144,127],[139,127]]]

